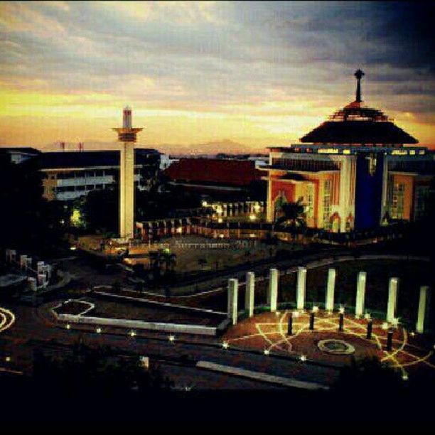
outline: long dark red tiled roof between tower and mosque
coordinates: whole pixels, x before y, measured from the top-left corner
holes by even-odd
[[[180,159],[164,171],[171,181],[217,183],[231,186],[248,186],[261,179],[263,173],[255,168],[254,161],[222,159]]]

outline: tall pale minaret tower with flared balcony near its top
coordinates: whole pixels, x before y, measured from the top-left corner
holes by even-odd
[[[134,142],[142,129],[131,127],[131,109],[124,108],[122,128],[114,129],[122,142],[119,155],[119,237],[134,237]]]

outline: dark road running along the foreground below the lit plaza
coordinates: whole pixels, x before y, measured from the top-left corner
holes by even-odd
[[[220,340],[213,338],[176,337],[173,343],[168,335],[138,333],[131,338],[128,331],[119,329],[95,332],[94,328],[81,327],[67,330],[54,326],[41,316],[42,308],[16,306],[12,308],[16,321],[14,326],[0,335],[2,365],[9,370],[30,372],[33,350],[41,348],[51,353],[65,353],[79,337],[93,348],[108,345],[117,355],[146,355],[159,362],[164,375],[183,389],[264,389],[281,388],[267,382],[247,380],[195,367],[198,361],[210,361],[221,365],[240,367],[270,375],[290,377],[296,380],[331,384],[338,376],[335,367],[301,363],[299,360],[279,355],[263,355],[246,350],[224,349]],[[10,361],[5,362],[9,357]]]

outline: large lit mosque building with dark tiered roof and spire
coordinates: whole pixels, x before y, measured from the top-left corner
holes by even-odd
[[[332,232],[419,220],[434,177],[434,153],[380,110],[355,101],[300,139],[269,147],[267,221],[283,203],[304,205],[306,225]]]

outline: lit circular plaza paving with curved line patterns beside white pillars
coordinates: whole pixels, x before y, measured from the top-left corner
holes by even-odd
[[[345,316],[344,329],[338,331],[338,313],[319,311],[316,313],[314,331],[309,330],[309,313],[293,316],[293,335],[287,335],[290,311],[260,313],[229,328],[223,340],[230,347],[250,348],[269,352],[294,355],[302,360],[348,364],[356,359],[376,356],[382,362],[397,367],[406,379],[413,367],[431,367],[433,350],[421,344],[423,340],[413,332],[399,326],[394,330],[392,350],[387,350],[387,331],[382,321],[373,321],[372,339],[366,338],[367,321]],[[355,348],[353,355],[334,355],[318,348],[321,340],[345,340]]]

